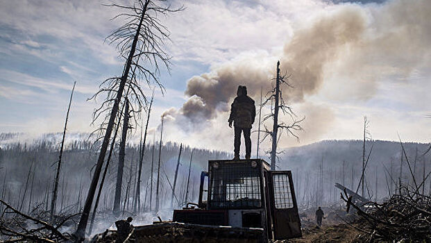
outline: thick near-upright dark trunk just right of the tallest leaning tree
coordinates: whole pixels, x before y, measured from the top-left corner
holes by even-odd
[[[114,199],[114,215],[119,215],[119,206],[121,202],[121,186],[123,185],[123,171],[124,171],[124,156],[126,156],[126,139],[128,131],[128,101],[126,99],[126,105],[124,109],[124,120],[123,120],[123,130],[121,131],[121,142],[119,150],[118,159],[118,169],[117,169],[117,183],[115,185],[115,199]]]

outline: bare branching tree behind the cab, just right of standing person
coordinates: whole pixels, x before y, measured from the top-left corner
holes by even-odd
[[[272,89],[267,94],[267,100],[264,101],[262,106],[266,106],[267,104],[271,104],[271,113],[264,117],[262,120],[267,121],[268,119],[273,119],[273,128],[270,131],[267,126],[265,127],[265,133],[263,140],[267,138],[268,136],[271,137],[271,151],[269,153],[271,154],[271,170],[276,169],[276,158],[277,158],[277,145],[280,141],[280,137],[283,132],[287,133],[287,135],[292,135],[296,137],[296,140],[299,140],[298,135],[296,135],[297,131],[303,131],[303,128],[301,127],[301,121],[305,119],[303,117],[302,119],[296,119],[296,115],[294,111],[292,110],[291,106],[287,106],[287,103],[285,99],[282,96],[282,87],[293,87],[289,81],[291,79],[291,75],[280,75],[280,61],[277,62],[277,76],[275,78],[275,86],[272,83]],[[282,111],[283,115],[287,115],[291,118],[290,123],[286,123],[285,121],[279,121],[279,112]],[[278,129],[280,128],[280,133],[278,133]],[[280,152],[282,153],[282,152]]]

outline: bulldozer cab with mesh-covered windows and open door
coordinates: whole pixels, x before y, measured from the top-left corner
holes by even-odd
[[[213,215],[223,212],[219,222],[225,225],[263,228],[269,240],[302,236],[291,171],[270,171],[264,160],[208,161],[198,206]]]

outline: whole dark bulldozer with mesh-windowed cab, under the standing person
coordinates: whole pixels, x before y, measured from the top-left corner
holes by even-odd
[[[272,242],[301,237],[291,171],[261,159],[209,160],[198,203],[172,221],[137,226],[134,242]],[[105,242],[98,241],[95,242]]]

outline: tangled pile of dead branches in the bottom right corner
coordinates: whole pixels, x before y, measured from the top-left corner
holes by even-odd
[[[357,210],[360,219],[354,227],[365,234],[360,242],[431,242],[431,197],[403,186],[401,193],[384,203],[353,203],[341,194],[341,199]]]

